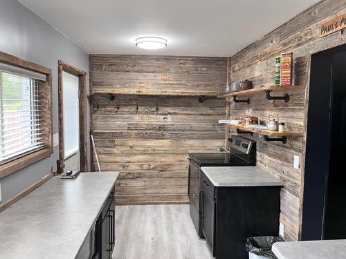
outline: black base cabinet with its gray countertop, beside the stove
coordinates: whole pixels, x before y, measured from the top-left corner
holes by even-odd
[[[201,229],[216,259],[246,259],[246,238],[277,236],[283,182],[257,166],[201,171]]]

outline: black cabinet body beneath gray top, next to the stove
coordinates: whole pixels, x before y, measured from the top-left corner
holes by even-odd
[[[204,173],[200,184],[202,231],[216,259],[247,259],[246,238],[277,236],[280,186],[214,186]]]

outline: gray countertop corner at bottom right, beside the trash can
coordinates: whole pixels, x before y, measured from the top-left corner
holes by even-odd
[[[346,258],[346,240],[276,242],[271,250],[279,259]]]

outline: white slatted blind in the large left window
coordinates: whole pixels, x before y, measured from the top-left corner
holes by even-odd
[[[5,68],[0,65],[0,164],[44,147],[39,80]]]

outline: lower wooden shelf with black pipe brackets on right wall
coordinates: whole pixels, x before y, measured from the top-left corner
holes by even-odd
[[[253,133],[262,134],[264,136],[264,140],[270,142],[270,141],[282,141],[282,143],[286,144],[287,137],[302,137],[303,133],[295,132],[295,131],[268,131],[264,129],[258,129],[258,128],[249,128],[244,125],[237,125],[237,124],[226,124],[228,128],[235,129],[237,133],[250,133],[251,135]],[[271,138],[276,137],[276,138]],[[280,137],[280,138],[277,138]]]

